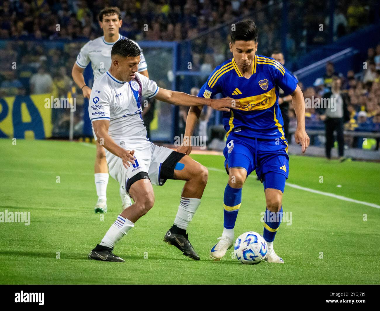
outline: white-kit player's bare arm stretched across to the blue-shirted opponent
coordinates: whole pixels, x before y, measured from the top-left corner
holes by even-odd
[[[189,95],[182,92],[175,92],[171,90],[165,90],[165,88],[160,88],[157,95],[155,95],[160,101],[165,101],[166,103],[181,106],[211,106],[211,108],[220,111],[230,111],[231,108],[236,109],[240,107],[239,101],[232,98],[222,98],[222,99],[209,99],[198,96]]]

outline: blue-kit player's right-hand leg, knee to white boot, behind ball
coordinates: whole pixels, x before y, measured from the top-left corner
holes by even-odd
[[[266,208],[267,210],[271,213],[268,215],[265,215],[264,217],[264,235],[265,233],[268,234],[275,234],[275,232],[278,229],[279,223],[282,220],[282,191],[279,189],[273,189],[273,188],[266,188],[265,189],[265,200],[266,200]],[[277,227],[275,229],[272,229],[268,224],[273,223],[273,220],[276,223],[274,227]],[[268,230],[268,231],[266,231]],[[264,237],[266,238],[266,237]],[[272,238],[270,239],[272,240]],[[274,236],[273,236],[274,240]],[[266,256],[266,260],[271,263],[276,263],[276,264],[283,264],[284,261],[281,257],[279,257],[273,249],[273,240],[268,242],[268,253]]]

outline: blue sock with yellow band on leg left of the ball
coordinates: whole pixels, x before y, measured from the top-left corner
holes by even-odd
[[[226,229],[233,229],[237,212],[241,205],[241,189],[232,188],[227,184],[224,190],[224,224]]]

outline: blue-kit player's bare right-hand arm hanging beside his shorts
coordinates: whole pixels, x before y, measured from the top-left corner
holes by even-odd
[[[307,147],[309,147],[310,138],[306,134],[305,129],[305,99],[302,94],[301,88],[297,85],[294,92],[291,94],[294,112],[297,117],[297,129],[294,133],[294,140],[297,144],[301,144],[302,153],[305,153]]]

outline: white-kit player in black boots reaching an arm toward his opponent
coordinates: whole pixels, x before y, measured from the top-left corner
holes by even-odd
[[[186,183],[174,224],[166,232],[164,242],[199,260],[186,229],[201,202],[207,169],[184,153],[149,141],[141,118],[141,96],[174,105],[207,105],[221,111],[230,111],[229,108],[239,104],[231,98],[212,101],[159,88],[156,82],[137,72],[140,55],[139,47],[131,40],[117,41],[111,51],[111,68],[94,82],[91,90],[89,115],[98,142],[107,150],[109,174],[135,203],[117,216],[89,258],[124,262],[112,253],[114,245],[153,207],[152,184],[161,186],[167,179],[178,179]]]

